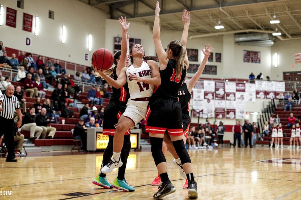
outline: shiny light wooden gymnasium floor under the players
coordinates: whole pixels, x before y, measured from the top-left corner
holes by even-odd
[[[157,169],[150,150],[130,153],[126,178],[135,191],[129,193],[92,184],[102,154],[55,151],[29,154],[17,158],[17,163],[5,162],[2,156],[0,187],[11,188],[10,199],[153,199],[157,187],[151,182]],[[218,148],[189,150],[189,154],[199,199],[301,198],[301,149]],[[163,199],[188,199],[188,191],[182,189],[185,180],[172,164],[169,152],[167,159],[169,178],[177,191]],[[107,177],[113,181],[116,175],[115,169]],[[82,194],[66,195],[70,193]]]

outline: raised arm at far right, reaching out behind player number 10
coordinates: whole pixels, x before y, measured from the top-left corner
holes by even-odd
[[[186,82],[187,89],[190,93],[191,93],[191,90],[194,87],[194,85],[197,83],[197,80],[200,78],[201,74],[203,73],[206,63],[208,61],[210,52],[212,52],[212,51],[213,51],[212,46],[210,46],[210,44],[208,44],[208,46],[205,44],[205,49],[202,49],[202,52],[204,54],[203,61],[200,64],[199,68],[197,69],[197,72],[192,76],[191,79],[189,79]]]

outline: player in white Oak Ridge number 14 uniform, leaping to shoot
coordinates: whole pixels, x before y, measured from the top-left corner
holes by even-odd
[[[113,169],[122,166],[120,152],[123,147],[124,133],[133,128],[142,118],[146,117],[147,104],[154,92],[154,85],[160,85],[159,66],[156,61],[144,61],[144,49],[140,44],[135,44],[130,50],[132,64],[124,67],[117,78],[112,79],[102,70],[92,67],[114,88],[120,88],[126,82],[129,87],[130,99],[126,110],[120,117],[114,134],[113,157],[110,162],[101,169],[104,174],[110,173]]]

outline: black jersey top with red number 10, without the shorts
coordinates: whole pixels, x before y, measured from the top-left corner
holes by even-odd
[[[161,85],[154,91],[154,98],[178,98],[178,89],[180,88],[186,76],[186,68],[184,66],[179,77],[176,77],[175,66],[177,61],[170,59],[166,69],[160,70]]]

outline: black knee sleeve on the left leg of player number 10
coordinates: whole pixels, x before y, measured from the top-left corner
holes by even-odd
[[[160,163],[166,162],[166,158],[162,152],[163,138],[150,137],[151,154],[154,158],[156,166]]]

